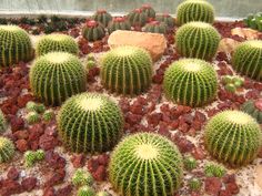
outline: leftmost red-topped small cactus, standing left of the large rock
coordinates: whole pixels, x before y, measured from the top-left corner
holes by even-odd
[[[103,27],[99,22],[90,20],[83,27],[82,34],[83,38],[87,39],[88,41],[98,41],[103,39],[105,32]]]

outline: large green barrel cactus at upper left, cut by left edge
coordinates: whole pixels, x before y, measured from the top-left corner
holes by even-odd
[[[0,68],[10,66],[19,61],[33,58],[29,34],[17,25],[0,25]]]

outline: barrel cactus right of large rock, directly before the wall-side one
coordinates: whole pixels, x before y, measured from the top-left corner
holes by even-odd
[[[219,42],[219,32],[204,22],[189,22],[179,28],[175,34],[177,50],[185,58],[212,60]]]

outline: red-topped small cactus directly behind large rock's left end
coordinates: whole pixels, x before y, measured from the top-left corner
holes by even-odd
[[[109,27],[108,27],[109,34],[111,34],[113,31],[117,31],[117,30],[131,30],[131,24],[123,17],[114,18],[112,22],[109,23]]]

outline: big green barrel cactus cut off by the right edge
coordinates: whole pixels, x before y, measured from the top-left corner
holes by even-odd
[[[262,41],[251,40],[239,44],[233,53],[232,65],[241,74],[262,81]]]

